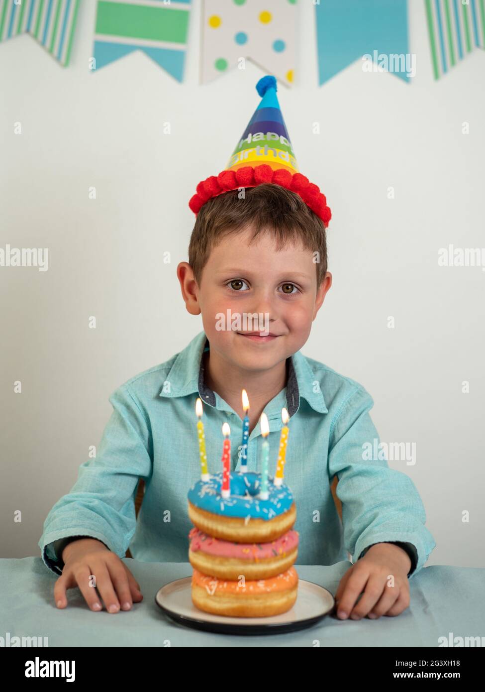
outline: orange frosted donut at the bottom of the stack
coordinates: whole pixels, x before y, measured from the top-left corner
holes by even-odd
[[[217,615],[268,617],[289,610],[296,601],[298,574],[295,567],[270,579],[226,581],[194,570],[192,602]]]

